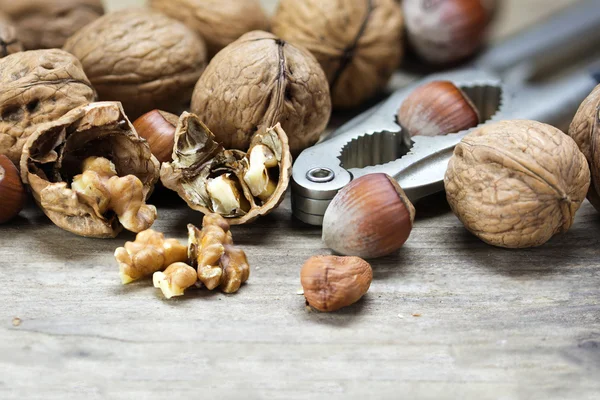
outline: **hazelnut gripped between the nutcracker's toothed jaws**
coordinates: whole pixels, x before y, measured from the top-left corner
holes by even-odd
[[[415,89],[398,111],[398,123],[410,136],[438,136],[474,128],[479,111],[452,82],[434,81]]]

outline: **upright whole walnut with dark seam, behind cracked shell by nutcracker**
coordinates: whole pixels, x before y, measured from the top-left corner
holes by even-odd
[[[281,123],[298,154],[325,130],[331,98],[307,50],[255,31],[212,59],[194,89],[192,112],[226,149],[248,150],[256,132]]]

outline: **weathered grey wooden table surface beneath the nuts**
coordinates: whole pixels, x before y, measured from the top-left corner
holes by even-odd
[[[200,224],[172,195],[155,204],[169,237]],[[598,399],[589,203],[570,232],[529,250],[483,244],[443,196],[417,210],[403,250],[373,262],[368,295],[321,314],[297,294],[299,270],[328,250],[289,198],[234,228],[252,265],[238,294],[170,301],[149,281],[120,284],[112,253],[133,235],[76,237],[29,207],[0,227],[0,398]]]

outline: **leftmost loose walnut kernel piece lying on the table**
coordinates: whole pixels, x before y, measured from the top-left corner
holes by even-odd
[[[176,239],[165,239],[162,233],[148,229],[138,233],[134,242],[127,242],[124,247],[115,250],[115,259],[125,285],[172,264],[187,262],[187,246]]]

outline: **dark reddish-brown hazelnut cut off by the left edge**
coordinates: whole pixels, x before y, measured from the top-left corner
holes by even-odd
[[[16,217],[27,199],[17,167],[4,155],[0,155],[0,224]]]

